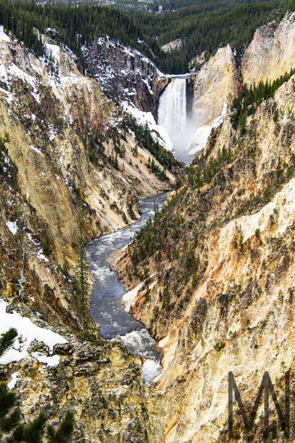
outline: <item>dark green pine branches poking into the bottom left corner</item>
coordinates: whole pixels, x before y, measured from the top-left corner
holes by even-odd
[[[0,357],[13,345],[17,337],[16,329],[10,328],[0,338]],[[6,383],[0,383],[0,439],[5,443],[42,443],[47,422],[47,414],[40,412],[31,423],[19,424],[21,411],[15,408],[16,393],[11,392]],[[67,411],[57,430],[47,426],[47,441],[51,443],[68,443],[74,431],[74,413]],[[5,440],[3,435],[6,435]]]

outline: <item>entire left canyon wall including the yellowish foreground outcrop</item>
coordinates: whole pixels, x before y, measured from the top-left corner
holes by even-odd
[[[163,166],[121,127],[122,109],[67,48],[43,39],[36,58],[0,29],[0,309],[67,343],[32,340],[19,361],[1,362],[0,380],[15,380],[26,423],[46,410],[57,424],[74,411],[73,442],[161,443],[160,397],[143,382],[143,360],[102,341],[94,324],[94,342],[79,338],[65,259],[75,261],[79,190],[90,240],[138,220],[139,198],[176,177],[151,171],[152,161]],[[20,336],[13,352],[27,343]]]

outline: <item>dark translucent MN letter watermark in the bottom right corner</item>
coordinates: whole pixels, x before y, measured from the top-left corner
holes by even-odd
[[[236,380],[234,377],[234,374],[230,371],[229,372],[229,381],[228,381],[228,410],[229,410],[229,416],[228,416],[228,433],[229,433],[229,439],[234,440],[234,433],[233,433],[233,424],[234,424],[234,418],[233,418],[233,392],[235,392],[235,398],[238,404],[239,411],[241,413],[245,431],[247,434],[251,433],[251,430],[253,429],[255,417],[259,408],[259,405],[262,400],[262,394],[264,393],[264,434],[263,438],[264,441],[268,441],[269,436],[269,394],[271,395],[272,401],[275,406],[275,410],[277,412],[279,422],[281,425],[281,430],[284,432],[285,438],[287,441],[289,441],[290,438],[290,373],[287,371],[285,373],[285,405],[284,408],[281,408],[276,393],[274,391],[272,382],[270,380],[268,372],[264,373],[261,385],[258,390],[258,394],[254,403],[254,406],[248,414],[248,417],[245,412],[244,405],[241,401],[240,394],[238,392],[237,386],[236,386]],[[282,410],[283,409],[283,410]]]

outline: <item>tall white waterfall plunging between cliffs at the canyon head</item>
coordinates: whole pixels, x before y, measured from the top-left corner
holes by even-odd
[[[159,99],[158,125],[168,132],[176,157],[187,157],[185,147],[192,137],[186,119],[186,77],[172,77]]]

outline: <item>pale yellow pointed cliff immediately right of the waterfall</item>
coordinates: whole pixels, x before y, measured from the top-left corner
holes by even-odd
[[[193,123],[197,127],[211,126],[239,85],[238,68],[230,45],[218,49],[200,71],[188,76],[187,81],[189,88],[193,85]]]

